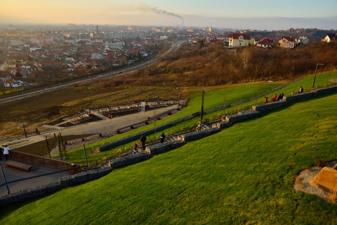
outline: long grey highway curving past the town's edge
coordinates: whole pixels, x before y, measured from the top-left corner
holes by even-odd
[[[94,76],[94,77],[88,78],[86,80],[81,80],[81,81],[77,81],[77,82],[61,84],[61,85],[59,85],[57,87],[55,87],[55,86],[54,87],[49,87],[49,88],[47,87],[47,88],[44,88],[43,90],[30,92],[28,94],[22,94],[22,95],[13,96],[13,97],[5,98],[5,99],[0,99],[0,104],[7,103],[7,102],[13,102],[13,101],[17,101],[17,100],[21,100],[21,99],[25,99],[25,98],[34,97],[36,95],[41,95],[41,94],[44,94],[44,93],[47,93],[47,92],[56,91],[56,90],[59,90],[59,89],[62,89],[62,88],[66,88],[66,87],[71,87],[72,85],[74,85],[76,83],[82,83],[82,82],[85,82],[85,81],[91,81],[91,80],[96,80],[96,79],[102,79],[102,78],[109,78],[109,77],[120,76],[122,74],[126,74],[126,73],[129,73],[129,72],[132,72],[132,71],[144,68],[144,67],[146,67],[148,65],[151,65],[151,64],[155,63],[158,60],[161,60],[165,56],[168,56],[168,55],[172,54],[184,42],[185,41],[178,41],[178,42],[172,44],[172,47],[165,54],[163,54],[161,56],[157,56],[153,60],[145,61],[141,65],[136,65],[136,66],[134,66],[132,68],[128,68],[128,69],[125,69],[125,70],[120,70],[120,71],[109,73],[109,74]]]

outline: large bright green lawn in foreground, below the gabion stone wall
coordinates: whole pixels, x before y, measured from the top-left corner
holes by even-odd
[[[337,93],[265,113],[105,177],[1,209],[3,224],[337,224],[294,175],[336,160]]]

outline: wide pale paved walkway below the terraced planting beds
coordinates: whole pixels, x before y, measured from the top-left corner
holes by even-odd
[[[27,138],[20,137],[18,139],[14,139],[14,140],[1,143],[1,145],[8,145],[11,149],[15,149],[15,148],[25,146],[28,144],[44,141],[46,137],[52,138],[54,137],[54,133],[56,134],[61,133],[62,136],[114,133],[119,128],[131,126],[133,124],[146,121],[147,117],[154,117],[156,115],[169,112],[175,108],[177,108],[177,105],[172,105],[172,106],[164,107],[164,108],[158,108],[158,109],[149,110],[149,111],[141,112],[141,113],[114,117],[109,120],[84,123],[84,124],[79,124],[79,125],[70,126],[70,127],[59,127],[57,130],[53,130],[50,132],[43,132],[41,135],[34,135],[34,136],[27,137]]]

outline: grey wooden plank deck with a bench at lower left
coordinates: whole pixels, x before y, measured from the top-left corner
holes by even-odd
[[[22,178],[42,175],[45,173],[60,171],[58,169],[44,167],[42,165],[24,163],[24,164],[32,165],[32,168],[29,171],[26,171],[26,170],[22,170],[19,168],[7,166],[5,164],[7,161],[15,161],[15,162],[22,163],[18,160],[13,160],[13,159],[6,160],[4,159],[4,157],[2,157],[2,160],[0,161],[0,163],[1,163],[7,182],[22,179]],[[15,193],[15,192],[18,192],[24,189],[41,186],[43,184],[57,182],[59,181],[61,177],[69,176],[71,174],[72,173],[70,171],[64,171],[64,172],[54,173],[54,174],[47,175],[47,176],[42,176],[42,177],[37,177],[37,178],[32,178],[32,179],[28,179],[24,181],[11,183],[11,184],[8,184],[8,186],[9,186],[10,193]],[[5,182],[3,180],[3,176],[0,173],[0,184],[4,184],[4,183]],[[0,196],[6,195],[7,193],[8,192],[7,192],[6,185],[1,186]]]

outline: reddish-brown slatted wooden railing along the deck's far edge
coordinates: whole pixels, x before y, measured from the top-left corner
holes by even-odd
[[[71,169],[75,167],[79,167],[79,164],[72,164],[60,160],[49,159],[41,156],[36,156],[28,153],[18,152],[14,150],[9,151],[9,158],[20,160],[23,162],[38,164],[42,166],[52,167],[55,169]],[[71,170],[72,173],[80,172],[80,169]]]

